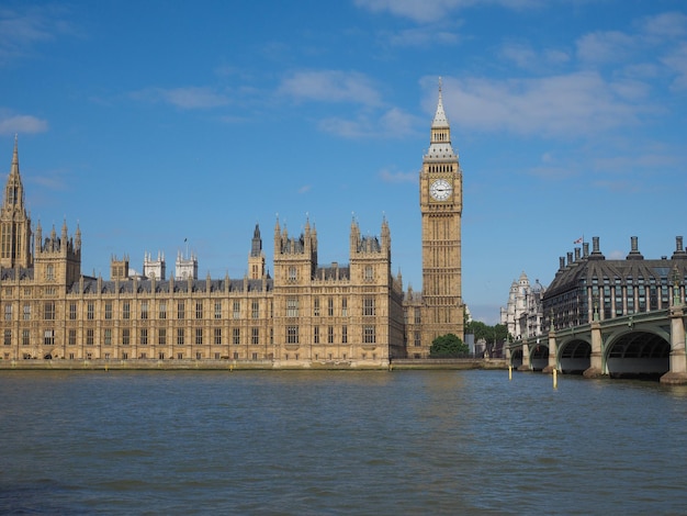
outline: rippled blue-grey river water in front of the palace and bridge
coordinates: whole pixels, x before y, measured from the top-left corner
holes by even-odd
[[[2,371],[2,514],[684,514],[687,388]]]

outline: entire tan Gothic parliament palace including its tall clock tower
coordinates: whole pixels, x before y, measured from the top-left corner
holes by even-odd
[[[2,360],[233,360],[273,368],[386,367],[427,358],[432,340],[463,337],[462,171],[451,145],[441,87],[430,146],[419,171],[423,291],[404,292],[391,271],[386,220],[362,236],[353,220],[347,263],[317,261],[317,232],[274,225],[273,277],[260,227],[240,279],[198,278],[195,256],[111,260],[110,278],[81,271],[79,227],[35,229],[25,205],[18,141],[0,206]],[[162,363],[165,363],[162,362]]]

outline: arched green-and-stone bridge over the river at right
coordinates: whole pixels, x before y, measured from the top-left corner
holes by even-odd
[[[597,313],[592,323],[510,343],[506,359],[520,371],[687,383],[686,314],[684,304],[604,321]]]

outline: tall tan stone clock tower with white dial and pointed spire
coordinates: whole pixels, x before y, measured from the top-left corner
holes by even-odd
[[[454,334],[464,338],[461,294],[463,172],[451,146],[451,127],[441,99],[441,79],[419,183],[423,215],[421,346],[428,350],[438,336]]]

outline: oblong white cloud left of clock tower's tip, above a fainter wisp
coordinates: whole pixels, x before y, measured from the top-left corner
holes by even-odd
[[[362,74],[339,70],[299,71],[282,81],[279,92],[297,100],[376,105],[380,94]]]

